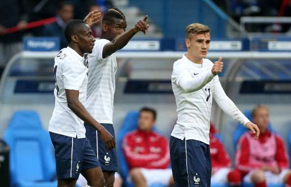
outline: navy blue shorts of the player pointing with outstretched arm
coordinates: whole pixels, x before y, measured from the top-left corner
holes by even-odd
[[[115,133],[112,124],[101,123],[103,127],[114,137]],[[86,128],[86,137],[90,140],[90,144],[97,154],[99,164],[101,166],[102,171],[107,171],[109,173],[115,173],[117,171],[117,153],[116,147],[110,151],[106,150],[106,146],[104,142],[101,140],[99,133],[97,130],[89,125],[88,123],[84,123]]]

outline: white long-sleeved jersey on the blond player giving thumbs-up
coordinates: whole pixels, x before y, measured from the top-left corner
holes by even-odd
[[[227,97],[211,69],[213,63],[190,61],[185,55],[173,65],[172,89],[177,105],[177,124],[171,136],[183,140],[199,140],[209,144],[212,98],[228,115],[245,124],[249,120]]]

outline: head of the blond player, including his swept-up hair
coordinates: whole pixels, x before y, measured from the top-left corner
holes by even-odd
[[[210,28],[200,23],[192,23],[186,28],[186,47],[195,58],[205,58],[210,46]]]

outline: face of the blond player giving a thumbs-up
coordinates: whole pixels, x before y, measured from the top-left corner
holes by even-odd
[[[210,33],[192,35],[192,38],[186,39],[186,46],[195,58],[205,58],[210,46]]]

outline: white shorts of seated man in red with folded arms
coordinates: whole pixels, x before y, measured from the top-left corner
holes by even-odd
[[[169,185],[170,178],[172,177],[172,170],[167,169],[140,169],[141,173],[145,177],[146,184],[148,186],[152,184],[162,184],[164,186]]]

